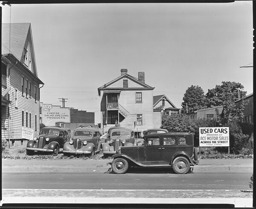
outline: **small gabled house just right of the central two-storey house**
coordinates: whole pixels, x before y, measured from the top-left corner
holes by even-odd
[[[153,96],[153,107],[163,110],[162,112],[168,115],[179,114],[180,111],[164,94]]]

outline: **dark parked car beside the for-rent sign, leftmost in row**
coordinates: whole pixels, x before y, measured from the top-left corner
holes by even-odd
[[[27,142],[26,154],[32,155],[35,151],[42,151],[52,152],[53,156],[57,156],[59,152],[63,151],[63,145],[68,138],[69,134],[66,128],[44,127],[38,137]]]

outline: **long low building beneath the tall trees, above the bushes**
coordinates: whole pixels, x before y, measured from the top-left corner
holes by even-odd
[[[219,106],[219,107],[210,107],[210,108],[206,108],[203,110],[196,110],[190,113],[186,113],[190,119],[216,119],[217,118],[217,114],[216,114],[216,108],[219,111],[219,114],[222,113],[223,111],[223,106]]]

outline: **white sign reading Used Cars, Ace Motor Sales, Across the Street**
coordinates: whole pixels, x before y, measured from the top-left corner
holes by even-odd
[[[229,127],[199,128],[200,147],[229,147]]]

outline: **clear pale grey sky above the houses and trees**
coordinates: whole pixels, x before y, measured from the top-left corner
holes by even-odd
[[[95,112],[97,89],[122,68],[177,108],[191,85],[235,81],[253,93],[252,1],[234,3],[13,4],[2,22],[31,23],[40,102]],[[10,16],[11,12],[11,16]],[[102,96],[102,95],[101,95]]]

